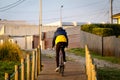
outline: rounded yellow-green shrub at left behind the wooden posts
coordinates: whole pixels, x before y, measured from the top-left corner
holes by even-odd
[[[9,41],[0,44],[0,60],[18,61],[21,57],[21,50],[17,44]]]

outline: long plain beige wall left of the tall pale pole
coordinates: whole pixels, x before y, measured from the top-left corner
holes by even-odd
[[[38,35],[38,30],[33,25],[5,25],[5,35],[11,36]]]

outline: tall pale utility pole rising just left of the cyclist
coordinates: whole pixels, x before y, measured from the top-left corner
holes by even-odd
[[[42,36],[42,0],[40,0],[40,15],[39,15],[39,45],[41,45]]]

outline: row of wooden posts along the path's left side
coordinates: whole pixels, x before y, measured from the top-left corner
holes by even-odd
[[[37,79],[38,74],[40,74],[41,67],[41,47],[38,46],[38,48],[33,50],[32,56],[27,54],[26,59],[21,59],[20,66],[15,65],[15,71],[12,75],[5,73],[5,80],[10,80],[13,77],[14,80],[19,80],[20,78],[21,80],[35,80]]]

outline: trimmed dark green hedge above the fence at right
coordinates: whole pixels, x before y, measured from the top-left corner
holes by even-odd
[[[120,35],[119,24],[84,24],[81,26],[81,30],[100,36],[115,35],[118,37]]]

